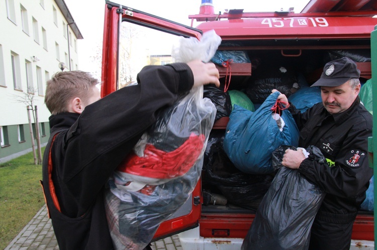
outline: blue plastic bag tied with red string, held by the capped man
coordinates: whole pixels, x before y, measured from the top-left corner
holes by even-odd
[[[291,113],[282,111],[281,120],[285,125],[281,129],[272,117],[271,108],[279,94],[268,96],[255,112],[234,105],[226,128],[224,151],[242,172],[272,173],[271,153],[281,145],[298,146],[299,129]]]

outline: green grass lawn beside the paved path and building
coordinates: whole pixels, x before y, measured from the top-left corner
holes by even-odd
[[[0,249],[7,247],[45,203],[40,179],[42,165],[34,165],[32,152],[0,164]]]

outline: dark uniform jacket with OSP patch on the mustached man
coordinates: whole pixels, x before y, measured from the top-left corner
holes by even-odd
[[[328,165],[320,164],[309,156],[299,167],[300,173],[326,192],[317,217],[335,223],[351,222],[373,175],[367,156],[371,114],[357,97],[344,112],[331,115],[318,103],[304,114],[294,114],[294,118],[300,129],[299,146],[317,146],[328,161]]]

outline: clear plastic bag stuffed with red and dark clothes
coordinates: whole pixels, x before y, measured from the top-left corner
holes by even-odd
[[[206,40],[207,45],[203,46],[191,38],[180,41],[175,53],[196,51],[196,47],[203,51],[213,44]],[[176,61],[202,59],[189,55],[189,59],[180,55]],[[190,197],[201,175],[215,115],[215,105],[203,98],[203,86],[193,89],[159,113],[134,152],[116,169],[105,194],[106,215],[116,249],[143,249],[160,223]]]

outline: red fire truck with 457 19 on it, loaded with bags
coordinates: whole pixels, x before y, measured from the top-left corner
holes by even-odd
[[[313,83],[329,59],[346,55],[355,58],[360,80],[365,82],[371,78],[370,34],[377,25],[375,15],[376,0],[310,0],[301,13],[248,13],[239,9],[215,13],[212,0],[203,0],[200,14],[189,16],[192,25],[185,26],[106,1],[102,96],[132,83],[136,79],[133,72],[140,71],[143,65],[171,62],[170,41],[180,36],[200,40],[210,30],[222,39],[219,51],[242,51],[251,59],[231,63],[230,68],[217,66],[221,83],[229,84],[229,89],[247,87],[256,59],[284,63]],[[160,52],[163,47],[168,52]],[[132,56],[135,53],[130,53],[131,48],[138,50],[138,60]],[[228,120],[220,118],[213,130],[225,131]],[[240,247],[255,211],[231,203],[204,204],[205,178],[202,175],[189,201],[159,226],[154,240],[179,233],[183,249]],[[373,212],[360,211],[357,215],[351,248],[374,248]]]

